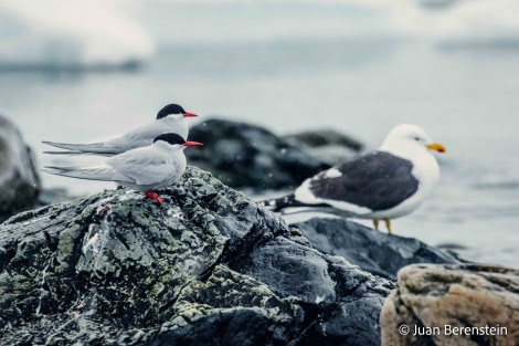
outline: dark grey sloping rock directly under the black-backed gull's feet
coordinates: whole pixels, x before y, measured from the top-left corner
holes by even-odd
[[[345,219],[314,218],[293,224],[320,252],[340,255],[372,274],[396,280],[413,263],[459,263],[444,251],[413,238],[379,232]]]

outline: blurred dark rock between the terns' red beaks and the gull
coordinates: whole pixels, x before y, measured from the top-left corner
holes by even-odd
[[[204,147],[186,151],[188,161],[234,188],[294,188],[330,167],[267,129],[244,123],[209,119],[193,126],[189,139]]]

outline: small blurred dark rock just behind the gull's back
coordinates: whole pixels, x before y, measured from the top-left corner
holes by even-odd
[[[356,156],[364,147],[360,140],[332,129],[304,132],[284,136],[283,139],[303,148],[330,166],[336,166]]]

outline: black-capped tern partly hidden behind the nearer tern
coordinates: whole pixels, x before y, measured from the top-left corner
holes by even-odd
[[[180,137],[187,139],[188,126],[184,118],[197,116],[197,114],[186,112],[180,105],[169,104],[159,111],[157,119],[153,123],[134,129],[120,137],[91,144],[68,144],[43,140],[46,145],[68,150],[44,153],[54,155],[96,154],[113,156],[135,148],[149,146],[153,143],[153,138],[161,134],[178,134]]]

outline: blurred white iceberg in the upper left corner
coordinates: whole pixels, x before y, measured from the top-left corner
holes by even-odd
[[[100,0],[0,1],[0,69],[98,69],[140,64],[148,32]]]

